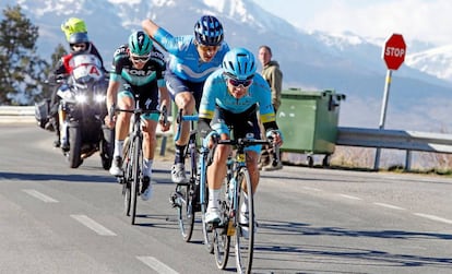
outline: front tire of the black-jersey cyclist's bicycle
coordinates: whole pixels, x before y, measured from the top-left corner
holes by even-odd
[[[130,188],[130,203],[131,203],[131,214],[130,214],[130,223],[132,225],[135,224],[136,217],[136,200],[138,200],[138,192],[140,190],[140,160],[142,158],[141,155],[141,139],[139,136],[133,138],[133,154],[132,154],[132,178],[131,188]]]

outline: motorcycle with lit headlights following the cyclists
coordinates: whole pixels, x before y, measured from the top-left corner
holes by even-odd
[[[60,78],[57,95],[63,155],[71,168],[78,168],[83,159],[99,152],[102,166],[109,169],[112,162],[115,132],[107,128],[106,92],[108,76],[100,60],[90,53],[76,55],[70,61],[72,71]]]

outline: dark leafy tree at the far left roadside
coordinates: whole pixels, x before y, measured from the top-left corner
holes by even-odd
[[[28,105],[43,95],[49,64],[36,53],[38,27],[8,5],[0,22],[0,105]]]

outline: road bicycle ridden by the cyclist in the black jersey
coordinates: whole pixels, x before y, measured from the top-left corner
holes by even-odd
[[[160,120],[167,122],[167,110],[164,106],[159,110],[146,110],[140,108],[140,95],[135,94],[135,108],[120,109],[115,108],[118,112],[130,112],[132,116],[132,127],[124,141],[122,150],[122,177],[118,177],[118,182],[122,184],[122,195],[124,199],[124,214],[130,216],[130,223],[135,224],[136,217],[136,200],[141,194],[140,186],[143,178],[143,132],[141,130],[141,116],[146,114],[159,114]],[[151,183],[151,181],[150,181]]]

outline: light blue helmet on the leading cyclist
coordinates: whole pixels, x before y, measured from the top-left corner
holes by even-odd
[[[255,73],[254,56],[246,48],[233,48],[223,58],[222,67],[229,78],[249,80]]]

